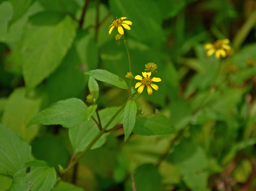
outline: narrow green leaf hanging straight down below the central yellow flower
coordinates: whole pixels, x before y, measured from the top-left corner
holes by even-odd
[[[133,100],[129,100],[126,103],[124,109],[124,120],[123,120],[123,127],[124,127],[124,142],[128,139],[130,134],[132,133],[135,119],[137,113],[137,106]]]

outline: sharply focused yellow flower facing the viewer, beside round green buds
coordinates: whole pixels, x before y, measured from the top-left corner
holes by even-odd
[[[155,82],[161,81],[160,78],[153,77],[151,79],[151,72],[142,72],[142,75],[143,75],[144,78],[141,77],[140,75],[137,75],[137,76],[134,77],[135,79],[138,79],[138,80],[141,81],[141,82],[138,82],[135,85],[135,88],[139,87],[138,88],[138,93],[139,94],[142,93],[142,91],[144,89],[144,86],[147,86],[147,93],[148,93],[148,95],[151,95],[153,93],[152,88],[154,88],[156,91],[159,89],[157,85],[152,84],[152,81],[155,81]]]

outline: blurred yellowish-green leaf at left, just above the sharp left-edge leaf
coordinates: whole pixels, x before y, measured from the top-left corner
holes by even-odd
[[[37,135],[39,125],[27,128],[27,124],[39,112],[41,103],[42,97],[29,98],[25,95],[25,88],[15,89],[5,105],[2,124],[19,133],[24,140],[30,141]]]

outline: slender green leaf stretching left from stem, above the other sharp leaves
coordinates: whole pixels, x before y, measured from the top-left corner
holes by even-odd
[[[89,76],[92,76],[93,78],[104,81],[109,84],[112,84],[116,87],[122,88],[122,89],[128,89],[125,81],[120,78],[119,76],[112,74],[106,70],[91,70],[89,72],[85,72],[84,74],[87,74]]]

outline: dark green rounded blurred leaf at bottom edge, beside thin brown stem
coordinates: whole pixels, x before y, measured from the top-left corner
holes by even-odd
[[[157,167],[152,164],[142,165],[134,174],[136,191],[156,191],[160,189],[161,176]],[[132,180],[129,178],[125,183],[125,190],[132,191]]]

